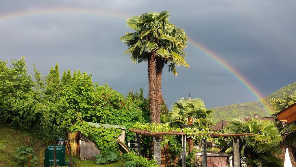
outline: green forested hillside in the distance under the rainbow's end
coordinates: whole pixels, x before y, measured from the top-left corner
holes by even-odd
[[[291,83],[287,86],[282,87],[281,89],[277,90],[274,93],[271,93],[270,95],[263,98],[264,103],[268,104],[270,106],[270,109],[272,109],[272,106],[269,104],[269,99],[274,98],[282,98],[284,96],[284,91],[287,93],[291,93],[294,90],[296,90],[296,82]],[[248,102],[248,103],[237,103],[237,104],[231,104],[224,107],[215,107],[211,108],[211,110],[214,111],[214,122],[218,122],[220,120],[230,120],[236,116],[241,116],[241,104],[243,105],[243,112],[244,117],[252,117],[253,113],[258,113],[259,117],[270,117],[270,114],[268,111],[266,111],[263,108],[262,105],[263,102],[255,101],[255,102]]]

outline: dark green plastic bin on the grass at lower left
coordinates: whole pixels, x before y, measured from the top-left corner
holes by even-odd
[[[56,162],[58,166],[65,164],[65,139],[59,138],[57,145],[49,145],[45,149],[44,167],[54,166],[54,146],[56,147]]]

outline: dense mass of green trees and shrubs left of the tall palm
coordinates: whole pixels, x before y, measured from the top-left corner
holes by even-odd
[[[25,59],[0,61],[0,121],[48,141],[66,134],[76,120],[124,125],[149,122],[148,99],[124,97],[107,84],[92,83],[91,75],[70,69],[59,75],[59,65],[43,77],[34,67],[28,74]],[[50,132],[50,133],[49,133]],[[126,140],[134,133],[126,130]]]

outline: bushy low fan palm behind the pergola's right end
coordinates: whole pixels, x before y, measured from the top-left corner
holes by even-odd
[[[247,166],[283,166],[283,160],[276,156],[282,153],[280,144],[283,137],[274,122],[258,118],[244,121],[243,118],[236,117],[228,122],[224,132],[255,134],[239,141],[240,159]],[[214,143],[221,149],[219,153],[233,155],[231,138],[219,138]]]

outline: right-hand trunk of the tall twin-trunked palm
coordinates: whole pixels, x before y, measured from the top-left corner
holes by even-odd
[[[161,93],[161,82],[163,73],[163,60],[158,59],[156,61],[156,96],[157,96],[157,107],[156,107],[156,122],[160,123],[161,114],[161,103],[163,101],[163,94]]]

